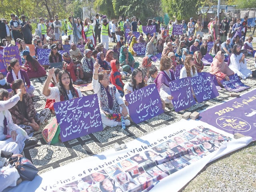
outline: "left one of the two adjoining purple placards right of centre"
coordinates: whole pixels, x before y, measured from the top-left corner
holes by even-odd
[[[176,112],[184,110],[196,104],[192,94],[190,77],[177,79],[169,82],[172,104]]]

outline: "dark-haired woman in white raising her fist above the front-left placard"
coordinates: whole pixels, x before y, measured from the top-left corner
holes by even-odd
[[[71,76],[68,71],[59,72],[58,86],[49,87],[52,77],[55,75],[54,68],[48,71],[47,79],[44,83],[42,94],[48,99],[54,99],[55,102],[70,100],[82,97],[80,89],[73,86]]]

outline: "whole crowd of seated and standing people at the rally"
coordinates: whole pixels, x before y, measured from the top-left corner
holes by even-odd
[[[222,80],[229,80],[229,76],[235,73],[242,79],[252,74],[246,66],[245,56],[253,54],[253,38],[246,38],[246,30],[242,36],[234,36],[238,28],[246,29],[247,17],[242,23],[240,18],[232,18],[230,24],[226,18],[222,22],[218,21],[218,17],[215,17],[215,20],[211,18],[208,24],[209,35],[205,38],[198,33],[202,31],[200,20],[195,24],[193,18],[190,18],[188,24],[182,21],[182,35],[172,35],[174,24],[178,21],[176,18],[175,21],[170,20],[165,27],[169,33],[167,36],[161,31],[160,21],[150,19],[147,25],[156,26],[156,32],[151,36],[143,33],[142,22],[137,21],[135,16],[131,21],[128,17],[125,21],[120,17],[116,27],[114,20],[108,21],[106,16],[96,14],[93,20],[86,18],[82,22],[81,18],[75,19],[71,14],[68,22],[63,23],[67,36],[63,45],[70,45],[70,50],[64,53],[59,52],[64,49],[63,24],[58,15],[52,23],[40,18],[40,36],[35,36],[34,39],[30,22],[26,21],[24,15],[21,19],[22,21],[18,16],[11,14],[10,25],[4,18],[0,23],[0,48],[14,46],[11,44],[13,38],[20,46],[22,57],[22,63],[18,59],[10,61],[6,79],[4,74],[0,73],[0,122],[3,122],[0,124],[0,151],[10,152],[5,156],[8,158],[21,156],[25,145],[34,145],[38,142],[36,138],[28,135],[38,131],[40,126],[46,124],[55,114],[54,102],[83,96],[73,84],[92,82],[94,93],[98,96],[102,124],[106,128],[121,126],[122,118],[125,119],[126,126],[130,125],[125,95],[148,84],[156,84],[163,108],[173,108],[174,97],[170,92],[169,82],[177,79],[174,76],[177,65],[182,65],[178,78],[198,76],[198,72],[204,68],[202,58],[208,52],[214,57],[209,72],[216,76],[219,84]],[[124,34],[126,29],[130,29],[128,36]],[[138,39],[133,32],[140,33]],[[50,37],[48,41],[47,36]],[[54,44],[56,40],[57,43]],[[114,43],[113,49],[109,49],[109,42]],[[209,42],[213,44],[210,50]],[[136,52],[133,46],[136,43],[146,44],[141,64],[134,59]],[[30,48],[27,46],[29,44],[35,45],[35,56],[30,54]],[[77,45],[84,45],[84,52],[81,52]],[[38,49],[50,49],[49,63],[63,64],[61,69],[48,70],[42,89],[42,95],[47,101],[40,113],[35,110],[32,101],[35,88],[29,80],[46,75],[46,66],[42,66],[37,60]],[[158,73],[158,69],[152,63],[152,57],[159,53],[162,56]],[[224,62],[225,57],[228,57],[227,63]],[[124,84],[122,80],[126,76],[131,76],[131,81]],[[8,92],[10,89],[12,92]],[[1,153],[2,157],[4,156]],[[2,178],[0,174],[1,183],[5,184],[0,186],[0,191],[20,182],[17,172],[11,166],[4,167],[4,164],[0,164],[0,170],[8,176]]]

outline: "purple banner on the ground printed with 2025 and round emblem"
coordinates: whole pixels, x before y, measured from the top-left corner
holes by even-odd
[[[220,130],[256,140],[256,90],[200,113],[203,122]],[[210,117],[210,118],[209,118]]]

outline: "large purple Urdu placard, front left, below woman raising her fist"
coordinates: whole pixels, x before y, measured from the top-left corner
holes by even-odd
[[[97,94],[54,103],[62,142],[103,130]]]

